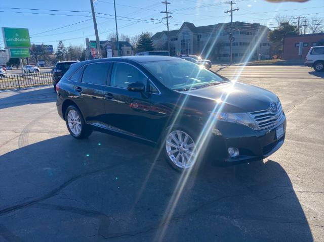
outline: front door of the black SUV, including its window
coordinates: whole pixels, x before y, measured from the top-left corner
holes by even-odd
[[[142,82],[146,91],[128,90],[128,85],[134,82]],[[111,128],[149,140],[156,138],[156,122],[165,114],[155,105],[158,89],[142,71],[128,63],[114,62],[104,94],[105,120]]]

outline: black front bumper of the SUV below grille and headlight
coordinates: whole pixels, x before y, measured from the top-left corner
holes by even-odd
[[[226,127],[235,125],[236,127]],[[276,128],[284,126],[284,136],[276,139]],[[262,160],[276,152],[284,143],[286,135],[286,117],[281,123],[264,130],[253,130],[239,124],[218,122],[216,128],[221,135],[213,134],[211,138],[210,153],[213,160],[225,161],[226,163],[241,163]],[[228,155],[228,148],[239,150],[237,157]]]

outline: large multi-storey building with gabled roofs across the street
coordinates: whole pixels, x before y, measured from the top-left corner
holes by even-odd
[[[201,55],[211,60],[229,60],[230,23],[208,26],[194,26],[184,22],[180,29],[169,31],[171,55]],[[259,23],[233,22],[233,60],[268,59],[270,43],[267,39],[269,28]],[[167,50],[167,31],[152,36],[156,50]]]

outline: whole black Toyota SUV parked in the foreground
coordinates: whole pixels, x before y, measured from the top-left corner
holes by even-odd
[[[275,94],[179,58],[75,63],[56,90],[58,113],[73,137],[99,130],[154,142],[180,171],[198,158],[260,160],[285,139],[286,117]]]

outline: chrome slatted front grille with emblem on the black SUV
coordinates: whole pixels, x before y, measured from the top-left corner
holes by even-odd
[[[250,114],[259,129],[270,128],[284,119],[284,112],[282,112],[280,102],[277,103],[277,111],[274,113],[267,109],[251,112]]]

